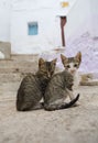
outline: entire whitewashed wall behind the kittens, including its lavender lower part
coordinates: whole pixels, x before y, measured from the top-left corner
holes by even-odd
[[[12,54],[41,54],[62,46],[57,16],[61,1],[0,0],[0,41],[11,42]],[[97,7],[98,0],[76,0],[67,13],[65,55],[81,51],[81,72],[98,72]],[[39,23],[39,35],[28,35],[28,22],[32,21]]]

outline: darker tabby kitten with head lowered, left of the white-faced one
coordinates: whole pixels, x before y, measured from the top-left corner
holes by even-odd
[[[56,59],[45,62],[40,58],[37,73],[35,75],[30,74],[23,78],[17,95],[18,111],[35,110],[43,107],[40,100],[54,74],[55,65]]]

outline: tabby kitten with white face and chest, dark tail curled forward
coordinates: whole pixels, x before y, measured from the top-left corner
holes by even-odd
[[[45,90],[44,95],[44,108],[45,110],[59,110],[69,108],[76,103],[79,98],[79,94],[74,98],[74,86],[77,69],[81,62],[81,53],[77,53],[75,57],[65,57],[61,55],[65,70],[54,75]],[[65,103],[66,97],[70,98],[70,102]]]

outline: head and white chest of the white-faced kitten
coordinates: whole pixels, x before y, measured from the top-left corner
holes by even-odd
[[[81,63],[81,53],[78,52],[75,57],[66,57],[61,54],[62,63],[65,67],[65,70],[67,70],[74,79],[73,85],[73,94],[70,96],[70,99],[74,99],[74,95],[78,92],[78,85],[80,82],[80,76],[78,74],[78,68]]]

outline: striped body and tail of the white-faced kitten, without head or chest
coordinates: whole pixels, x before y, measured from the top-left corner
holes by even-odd
[[[44,94],[44,109],[53,111],[69,108],[75,105],[79,95],[70,102],[64,102],[67,96],[72,96],[73,81],[73,76],[66,70],[55,74]]]

